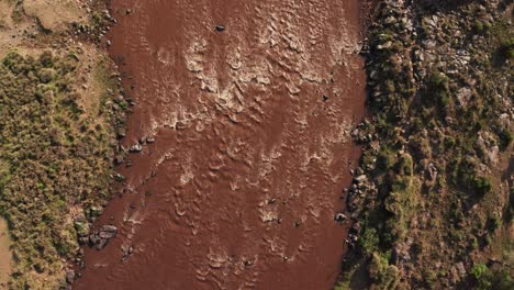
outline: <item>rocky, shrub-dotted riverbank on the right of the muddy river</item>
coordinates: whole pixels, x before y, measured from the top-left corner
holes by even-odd
[[[382,1],[337,289],[512,289],[512,1]]]

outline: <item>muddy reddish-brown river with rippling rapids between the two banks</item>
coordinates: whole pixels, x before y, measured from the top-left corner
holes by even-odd
[[[120,168],[125,193],[98,221],[120,232],[86,249],[74,288],[331,289],[359,155],[360,1],[112,8],[111,54],[136,102],[124,145],[155,143]]]

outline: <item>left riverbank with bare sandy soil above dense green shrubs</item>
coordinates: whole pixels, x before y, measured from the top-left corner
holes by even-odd
[[[113,105],[116,80],[99,45],[109,21],[98,2],[0,1],[0,215],[12,239],[8,252],[2,244],[1,277],[9,270],[9,289],[68,287],[88,223],[110,197],[124,110]]]

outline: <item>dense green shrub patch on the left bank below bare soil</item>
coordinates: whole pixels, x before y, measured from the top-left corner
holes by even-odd
[[[0,214],[13,241],[13,289],[64,283],[63,258],[87,234],[77,224],[109,196],[112,130],[99,122],[109,113],[79,105],[77,65],[51,52],[10,53],[0,64]]]

